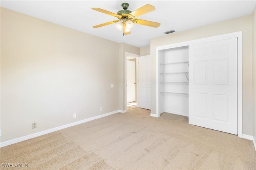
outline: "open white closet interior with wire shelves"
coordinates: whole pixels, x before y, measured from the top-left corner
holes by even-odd
[[[159,111],[188,116],[188,46],[158,52]]]

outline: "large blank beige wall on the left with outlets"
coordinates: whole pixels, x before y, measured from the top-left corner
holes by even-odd
[[[1,8],[1,142],[118,111],[119,59],[119,43]]]

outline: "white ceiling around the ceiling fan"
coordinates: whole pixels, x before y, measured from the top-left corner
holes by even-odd
[[[115,24],[92,28],[92,26],[113,21],[116,18],[91,8],[102,8],[116,13],[122,10],[123,2],[130,4],[128,10],[131,11],[145,4],[153,5],[156,10],[138,18],[160,22],[160,27],[152,28],[134,24],[131,34],[125,36],[116,30]],[[0,6],[4,8],[94,36],[136,47],[146,47],[150,45],[150,39],[164,36],[164,32],[169,30],[181,32],[252,14],[256,0],[1,0],[0,3]]]

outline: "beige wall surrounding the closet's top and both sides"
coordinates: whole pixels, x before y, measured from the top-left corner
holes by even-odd
[[[243,43],[243,133],[252,135],[252,15],[176,32],[150,42],[152,56],[151,113],[156,114],[156,47],[242,31]]]

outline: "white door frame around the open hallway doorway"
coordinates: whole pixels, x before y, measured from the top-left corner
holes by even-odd
[[[136,101],[138,101],[138,94],[139,94],[139,89],[138,89],[139,60],[138,60],[138,57],[140,57],[140,55],[125,52],[125,112],[127,111],[127,59],[136,59],[136,89],[137,89],[136,90]],[[139,107],[138,102],[137,102],[137,107]]]

